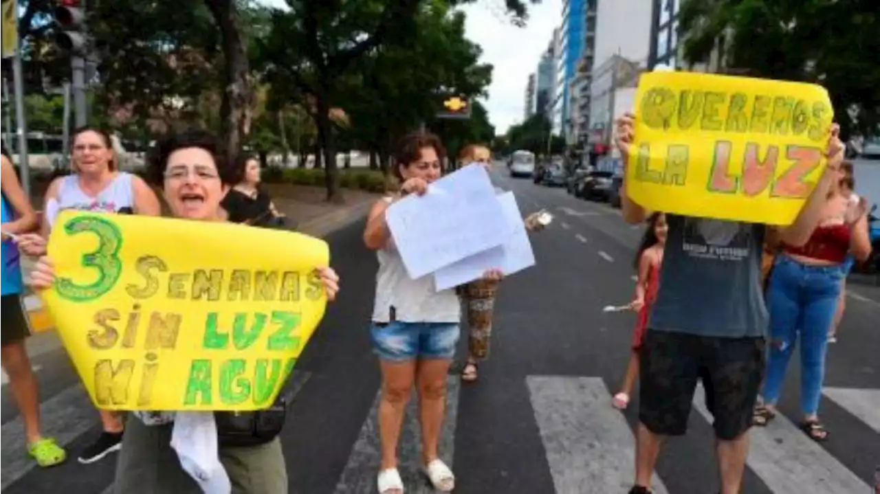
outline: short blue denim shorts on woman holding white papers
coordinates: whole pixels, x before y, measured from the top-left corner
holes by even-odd
[[[372,323],[373,350],[382,360],[451,360],[460,334],[458,323]]]

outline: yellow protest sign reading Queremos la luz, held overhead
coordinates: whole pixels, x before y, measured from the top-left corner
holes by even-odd
[[[787,225],[825,170],[833,109],[818,85],[652,72],[634,112],[627,193],[653,211]]]

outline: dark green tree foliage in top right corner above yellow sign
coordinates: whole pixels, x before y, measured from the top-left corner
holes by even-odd
[[[825,86],[844,134],[880,123],[880,16],[873,0],[685,0],[680,23],[689,62],[723,39],[730,67]]]

